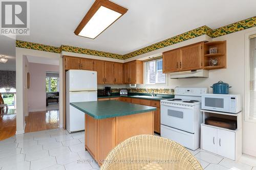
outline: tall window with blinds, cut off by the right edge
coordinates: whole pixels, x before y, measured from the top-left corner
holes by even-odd
[[[247,62],[248,63],[248,62]],[[247,119],[256,120],[256,35],[249,37],[249,74],[247,77]]]

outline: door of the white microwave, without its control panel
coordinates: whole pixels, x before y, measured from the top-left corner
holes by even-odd
[[[203,94],[202,109],[229,112],[230,96],[223,94]]]

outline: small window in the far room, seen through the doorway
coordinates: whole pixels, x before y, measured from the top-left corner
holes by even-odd
[[[57,92],[59,91],[59,74],[46,73],[46,92]]]

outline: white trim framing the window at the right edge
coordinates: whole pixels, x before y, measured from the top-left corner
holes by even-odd
[[[249,36],[256,31],[245,34],[245,122],[256,123],[256,119],[250,119],[250,40]]]

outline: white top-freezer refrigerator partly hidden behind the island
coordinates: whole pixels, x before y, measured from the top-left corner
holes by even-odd
[[[66,72],[66,128],[69,133],[84,130],[84,113],[72,102],[97,101],[97,72],[69,70]]]

